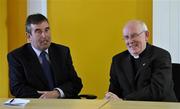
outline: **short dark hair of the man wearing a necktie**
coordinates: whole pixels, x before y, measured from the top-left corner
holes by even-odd
[[[26,32],[31,34],[31,24],[39,24],[48,19],[42,14],[31,14],[26,19]]]

